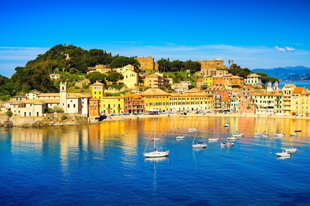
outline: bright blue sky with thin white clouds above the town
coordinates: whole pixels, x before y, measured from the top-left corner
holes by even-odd
[[[126,57],[221,57],[241,68],[310,68],[309,1],[4,1],[0,74],[57,44]]]

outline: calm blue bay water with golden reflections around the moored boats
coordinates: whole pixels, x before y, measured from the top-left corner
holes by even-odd
[[[169,157],[144,158],[156,121]],[[230,124],[224,128],[224,124]],[[309,120],[160,117],[0,128],[1,205],[309,205]],[[193,132],[207,148],[193,149]],[[255,137],[266,130],[269,138]],[[298,136],[290,136],[302,130]],[[235,146],[220,142],[240,131]],[[285,133],[285,137],[275,137]],[[185,139],[175,137],[184,135]],[[218,142],[208,142],[217,137]],[[275,153],[294,146],[289,158]],[[151,151],[150,147],[148,151]]]

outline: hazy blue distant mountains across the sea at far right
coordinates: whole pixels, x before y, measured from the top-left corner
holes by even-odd
[[[268,77],[275,77],[281,81],[310,81],[310,68],[304,66],[252,69],[251,71],[262,72]]]

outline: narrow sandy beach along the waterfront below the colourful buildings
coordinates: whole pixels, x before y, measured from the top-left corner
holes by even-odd
[[[212,116],[217,116],[217,117],[253,117],[253,118],[282,118],[282,119],[300,119],[300,120],[310,120],[310,117],[303,115],[303,116],[292,116],[292,115],[262,115],[262,114],[239,114],[239,113],[232,113],[232,114],[224,114],[224,113],[206,113],[206,114],[195,114],[194,112],[187,113],[187,115],[180,115],[180,114],[169,114],[171,116],[205,116],[205,117],[212,117]],[[155,115],[156,117],[167,117],[168,114],[159,114]],[[107,117],[107,119],[103,120],[102,122],[107,122],[107,121],[122,121],[122,120],[127,120],[127,119],[139,119],[139,118],[148,118],[148,117],[154,117],[154,115],[117,115],[117,116],[111,116]]]

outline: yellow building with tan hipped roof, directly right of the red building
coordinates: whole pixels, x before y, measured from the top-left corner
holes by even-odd
[[[144,99],[145,110],[169,111],[169,97],[171,94],[158,89],[147,89],[140,94]]]

